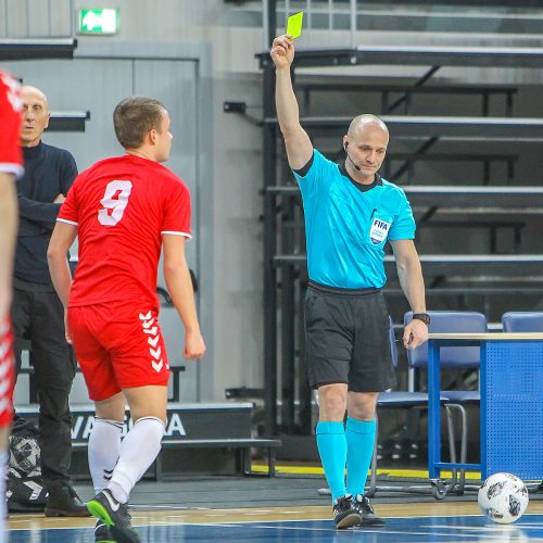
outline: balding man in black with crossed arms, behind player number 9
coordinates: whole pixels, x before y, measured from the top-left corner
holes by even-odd
[[[64,337],[64,310],[47,264],[49,239],[61,204],[77,176],[77,166],[68,151],[41,141],[51,115],[43,92],[23,87],[21,98],[25,173],[17,182],[20,227],[13,279],[16,367],[18,371],[23,341],[29,340],[40,406],[41,475],[49,493],[46,516],[88,516],[70,479],[68,395],[76,363]]]

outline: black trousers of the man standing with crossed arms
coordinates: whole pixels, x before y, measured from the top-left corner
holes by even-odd
[[[64,337],[64,308],[51,288],[15,280],[12,306],[16,372],[21,352],[30,341],[39,402],[39,445],[43,483],[70,482],[72,414],[68,395],[75,377],[75,356]]]

